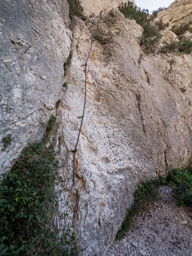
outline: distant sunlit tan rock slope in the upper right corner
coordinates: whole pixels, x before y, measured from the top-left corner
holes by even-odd
[[[171,29],[173,25],[177,27],[181,24],[188,24],[192,21],[192,1],[191,0],[176,0],[166,10],[160,11],[158,18],[162,21],[169,22]]]

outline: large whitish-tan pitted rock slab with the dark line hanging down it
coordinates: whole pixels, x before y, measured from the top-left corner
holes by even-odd
[[[142,28],[113,9],[101,19],[88,62],[88,99],[76,159],[72,160],[84,102],[84,67],[97,18],[74,19],[68,89],[58,109],[61,187],[73,207],[84,255],[104,255],[139,181],[191,163],[192,58],[143,55]],[[141,59],[141,58],[140,58]],[[174,64],[171,60],[174,59]],[[63,158],[64,156],[64,158]]]

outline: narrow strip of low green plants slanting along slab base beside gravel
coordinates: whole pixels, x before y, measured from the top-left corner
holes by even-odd
[[[133,224],[133,217],[142,210],[144,205],[149,201],[158,200],[157,189],[160,185],[165,185],[166,179],[164,177],[159,177],[152,181],[142,182],[141,185],[138,185],[134,193],[134,202],[130,210],[126,213],[126,219],[121,225],[121,229],[118,231],[116,238],[119,240],[124,237],[126,232],[130,229]]]

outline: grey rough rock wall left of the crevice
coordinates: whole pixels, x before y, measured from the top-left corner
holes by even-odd
[[[38,141],[62,96],[71,47],[67,0],[0,0],[0,167]],[[11,144],[3,147],[3,138]]]

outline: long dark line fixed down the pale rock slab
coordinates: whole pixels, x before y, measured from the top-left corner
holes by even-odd
[[[90,46],[88,57],[86,59],[86,63],[85,63],[85,65],[83,65],[83,66],[85,66],[85,98],[84,98],[84,108],[83,108],[83,115],[81,117],[78,117],[78,118],[82,118],[82,122],[80,124],[80,129],[79,129],[79,133],[78,133],[78,138],[77,138],[77,142],[76,142],[76,145],[75,145],[75,149],[71,150],[71,152],[74,153],[74,157],[73,157],[73,187],[74,187],[74,184],[75,184],[75,157],[76,157],[76,153],[77,153],[77,146],[78,146],[78,143],[79,143],[79,137],[80,137],[80,133],[82,131],[83,119],[84,119],[84,114],[85,114],[87,65],[88,65],[88,60],[89,60],[89,56],[90,56],[90,53],[91,53],[92,43],[94,42],[94,37],[95,37],[95,34],[97,32],[98,24],[100,23],[100,19],[101,19],[102,13],[103,13],[103,10],[100,13],[100,18],[98,18],[96,30],[95,30],[94,34],[92,35],[91,46]]]

